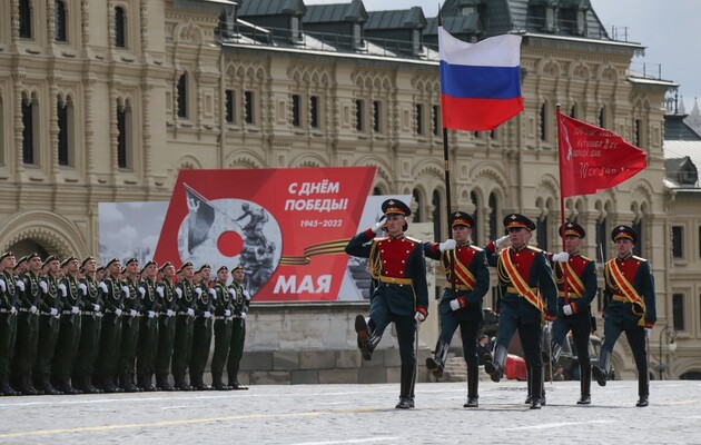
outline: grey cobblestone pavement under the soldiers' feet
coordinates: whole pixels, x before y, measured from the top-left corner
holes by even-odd
[[[395,409],[398,384],[253,386],[247,392],[0,397],[1,444],[629,444],[701,443],[701,382],[592,387],[546,384],[547,405],[527,409],[525,383],[482,382],[480,408],[463,408],[464,383],[416,387],[416,408]]]

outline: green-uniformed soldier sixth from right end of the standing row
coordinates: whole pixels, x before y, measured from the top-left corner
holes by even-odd
[[[158,345],[158,313],[160,297],[156,291],[158,265],[150,260],[141,269],[141,320],[139,326],[139,347],[137,352],[137,385],[144,390],[156,390],[152,376],[156,368],[156,347]]]

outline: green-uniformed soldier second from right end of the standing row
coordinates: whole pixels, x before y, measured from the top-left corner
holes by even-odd
[[[227,288],[229,280],[229,268],[219,267],[217,270],[217,280],[213,287],[215,291],[215,350],[211,355],[211,386],[217,390],[229,390],[230,388],[224,384],[221,375],[226,357],[229,354],[229,345],[231,343],[231,295]]]

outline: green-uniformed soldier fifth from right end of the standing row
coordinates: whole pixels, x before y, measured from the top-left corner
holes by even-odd
[[[178,299],[176,288],[172,283],[175,267],[170,261],[160,266],[159,273],[162,275],[156,293],[158,294],[160,316],[158,317],[158,348],[156,353],[156,386],[161,390],[174,390],[168,382],[170,374],[170,358],[175,345],[176,320]]]

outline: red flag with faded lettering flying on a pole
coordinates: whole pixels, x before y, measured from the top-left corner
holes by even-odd
[[[605,128],[557,110],[562,198],[615,187],[644,169],[645,152]]]

